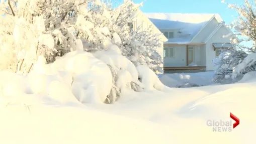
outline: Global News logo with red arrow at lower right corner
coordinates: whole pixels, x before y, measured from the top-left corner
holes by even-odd
[[[212,127],[212,131],[214,132],[228,132],[232,131],[240,123],[240,119],[237,118],[234,114],[230,112],[230,120],[207,120],[206,124]],[[232,119],[235,121],[232,125]]]

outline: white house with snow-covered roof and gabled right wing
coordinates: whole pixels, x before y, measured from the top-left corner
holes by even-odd
[[[163,44],[164,71],[215,70],[213,59],[232,47],[233,33],[218,14],[146,14],[168,38]]]

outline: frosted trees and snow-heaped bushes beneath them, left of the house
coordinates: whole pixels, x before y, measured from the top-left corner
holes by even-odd
[[[128,27],[139,6],[130,0],[117,9],[101,0],[1,1],[0,70],[29,73],[32,93],[50,90],[54,97],[60,93],[49,86],[65,83],[82,103],[113,103],[124,89],[141,91],[136,67],[157,72],[162,62],[152,30]]]

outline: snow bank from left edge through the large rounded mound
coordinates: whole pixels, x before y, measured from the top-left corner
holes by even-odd
[[[4,97],[43,95],[60,103],[103,103],[112,88],[109,67],[92,54],[73,51],[45,64],[39,57],[27,76],[1,72],[0,92]]]

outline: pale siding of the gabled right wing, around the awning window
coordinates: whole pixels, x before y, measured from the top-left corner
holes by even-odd
[[[216,51],[214,51],[212,44],[213,43],[230,43],[230,38],[223,36],[228,35],[230,31],[228,31],[225,26],[222,26],[209,41],[206,43],[206,70],[215,70],[216,67],[213,64],[213,60],[216,58]]]

